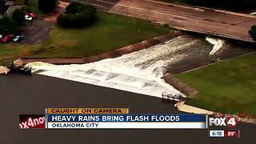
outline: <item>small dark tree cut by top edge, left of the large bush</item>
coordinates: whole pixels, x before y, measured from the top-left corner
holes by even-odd
[[[38,0],[38,7],[43,13],[53,12],[58,0]]]

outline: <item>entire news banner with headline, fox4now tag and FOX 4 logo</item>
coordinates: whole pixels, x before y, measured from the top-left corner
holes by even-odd
[[[206,134],[209,130],[213,138],[239,138],[237,124],[235,117],[209,118],[206,114],[130,114],[128,108],[47,108],[45,114],[20,115],[19,128],[200,129],[206,130]]]

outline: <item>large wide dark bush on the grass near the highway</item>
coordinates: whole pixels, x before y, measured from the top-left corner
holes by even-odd
[[[89,26],[94,22],[96,12],[94,6],[72,2],[66,7],[66,13],[58,16],[58,25],[62,27]]]

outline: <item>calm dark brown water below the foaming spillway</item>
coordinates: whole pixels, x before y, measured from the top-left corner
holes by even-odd
[[[239,123],[241,138],[208,138],[208,130],[18,130],[18,114],[46,107],[129,107],[134,114],[179,113],[160,98],[34,74],[0,75],[0,142],[70,143],[254,143],[256,126]],[[218,129],[218,128],[215,128]]]

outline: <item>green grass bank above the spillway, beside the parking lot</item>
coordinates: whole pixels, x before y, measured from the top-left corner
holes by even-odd
[[[33,57],[88,57],[171,31],[166,26],[156,26],[145,20],[118,14],[98,12],[97,18],[94,25],[82,29],[62,29],[53,26],[50,38],[36,45],[0,43],[0,60],[31,55]]]

